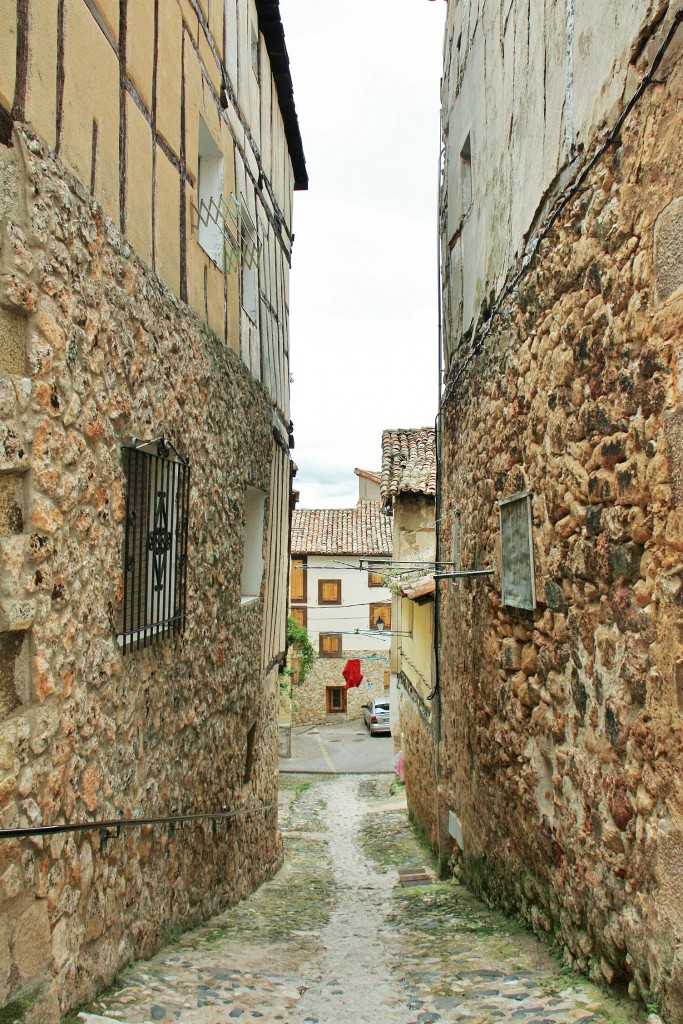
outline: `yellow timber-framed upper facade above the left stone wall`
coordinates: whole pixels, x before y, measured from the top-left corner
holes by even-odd
[[[292,193],[307,174],[279,4],[2,0],[0,33],[5,118],[44,139],[287,425]]]

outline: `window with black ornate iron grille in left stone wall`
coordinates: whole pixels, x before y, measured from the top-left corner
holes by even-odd
[[[189,466],[162,436],[123,449],[126,520],[124,653],[183,633],[186,616]]]

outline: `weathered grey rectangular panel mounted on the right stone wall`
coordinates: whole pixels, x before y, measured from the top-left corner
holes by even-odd
[[[499,503],[503,604],[536,608],[531,494],[528,490]]]

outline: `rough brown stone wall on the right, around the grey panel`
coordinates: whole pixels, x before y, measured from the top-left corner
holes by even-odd
[[[441,796],[467,877],[683,1021],[681,36],[466,362],[443,430]],[[538,607],[504,607],[532,493]],[[460,597],[459,597],[460,595]],[[460,604],[458,604],[460,601]]]

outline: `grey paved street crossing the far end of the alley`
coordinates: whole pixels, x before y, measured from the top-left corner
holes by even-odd
[[[281,758],[281,772],[383,772],[393,774],[391,736],[371,736],[362,721],[295,727],[292,757]]]

